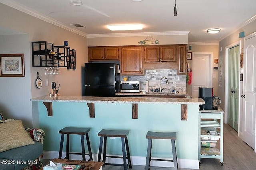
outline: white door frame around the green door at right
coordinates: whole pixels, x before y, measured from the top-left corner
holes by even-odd
[[[236,41],[235,43],[232,43],[225,47],[225,105],[224,105],[224,123],[228,123],[228,49],[231,49],[232,47],[235,47],[239,45],[239,54],[241,54],[241,40]],[[240,71],[239,71],[240,72]],[[238,96],[240,96],[240,83],[238,83]],[[240,132],[240,98],[238,98],[238,134]]]

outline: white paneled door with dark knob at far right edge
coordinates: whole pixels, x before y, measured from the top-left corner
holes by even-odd
[[[255,150],[256,37],[244,41],[243,141]]]

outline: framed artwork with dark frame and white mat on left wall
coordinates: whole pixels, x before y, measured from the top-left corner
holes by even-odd
[[[0,77],[25,77],[24,54],[0,54]]]

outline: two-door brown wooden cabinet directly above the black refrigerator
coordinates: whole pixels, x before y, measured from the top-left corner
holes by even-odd
[[[88,61],[119,60],[119,47],[88,47]]]

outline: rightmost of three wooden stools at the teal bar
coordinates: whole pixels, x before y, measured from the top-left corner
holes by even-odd
[[[172,167],[172,168],[174,168],[174,170],[178,170],[178,161],[177,161],[177,154],[176,154],[176,147],[175,147],[176,132],[151,132],[151,131],[148,131],[148,133],[146,135],[146,139],[148,139],[148,150],[147,150],[145,170],[148,170],[149,168],[158,168],[156,166],[150,166],[151,160],[173,162],[174,167]],[[173,158],[173,160],[151,158],[152,139],[170,139],[172,142],[172,158]],[[170,167],[160,167],[160,168],[161,169],[162,168],[170,169]]]

